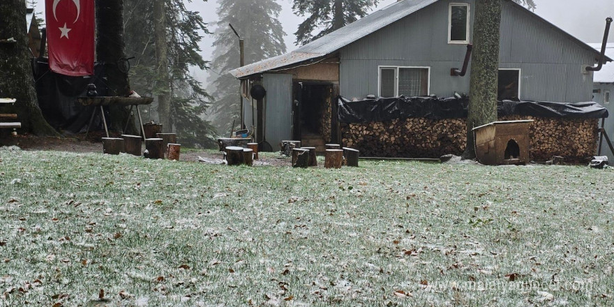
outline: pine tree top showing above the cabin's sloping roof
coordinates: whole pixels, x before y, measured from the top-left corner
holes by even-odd
[[[305,45],[368,14],[379,0],[294,0],[294,14],[307,19],[299,24],[297,45]],[[323,29],[322,29],[323,28]],[[314,31],[322,29],[319,33]]]

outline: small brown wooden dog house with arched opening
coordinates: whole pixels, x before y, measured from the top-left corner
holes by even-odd
[[[532,120],[493,121],[473,128],[477,161],[485,165],[529,162],[529,128]]]

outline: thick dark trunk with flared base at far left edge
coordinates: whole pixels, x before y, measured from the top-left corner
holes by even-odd
[[[0,43],[0,97],[17,99],[14,111],[8,113],[17,113],[22,131],[40,136],[58,135],[38,107],[28,48],[26,3],[1,0],[0,19],[0,40],[15,40],[15,43]]]

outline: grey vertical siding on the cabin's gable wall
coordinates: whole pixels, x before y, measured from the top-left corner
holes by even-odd
[[[447,97],[468,93],[471,66],[460,68],[465,45],[448,44],[449,3],[444,0],[398,20],[340,50],[340,91],[347,98],[378,94],[378,66],[429,66],[430,93]],[[521,69],[521,99],[580,102],[591,99],[592,74],[584,66],[595,63],[594,52],[578,45],[550,24],[513,3],[504,2],[501,22],[500,67]],[[473,40],[473,29],[470,29]]]

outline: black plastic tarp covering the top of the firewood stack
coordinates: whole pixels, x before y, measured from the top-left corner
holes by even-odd
[[[339,96],[338,116],[342,123],[368,123],[421,117],[458,119],[467,117],[467,98],[394,97],[350,101]],[[533,117],[600,119],[608,117],[605,107],[586,103],[553,103],[547,101],[503,100],[497,104],[500,117],[523,115]]]

